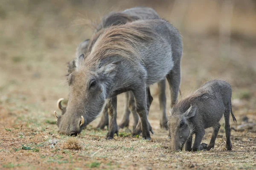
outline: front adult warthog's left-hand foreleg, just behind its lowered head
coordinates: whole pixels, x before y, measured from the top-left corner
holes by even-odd
[[[116,123],[116,103],[117,103],[116,96],[112,97],[111,99],[108,99],[107,107],[108,107],[108,114],[110,116],[110,121],[109,121],[108,134],[106,136],[107,139],[113,139],[115,133],[118,136],[118,125]]]

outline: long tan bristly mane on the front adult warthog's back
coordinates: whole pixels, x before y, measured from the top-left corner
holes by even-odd
[[[151,41],[155,33],[147,24],[127,23],[105,29],[93,45],[90,54],[84,61],[87,64],[112,56],[120,56],[128,60],[141,61],[139,48],[142,42]]]

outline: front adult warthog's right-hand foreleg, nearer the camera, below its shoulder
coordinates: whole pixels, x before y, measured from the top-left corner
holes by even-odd
[[[144,92],[144,93],[143,93]],[[147,95],[146,95],[147,94]],[[135,91],[134,96],[136,99],[136,108],[137,113],[140,116],[140,121],[137,124],[136,129],[132,132],[132,135],[139,135],[142,132],[143,139],[151,140],[150,131],[153,134],[152,127],[148,122],[148,111],[153,101],[153,98],[150,94],[149,88],[144,91]],[[146,101],[146,102],[145,102]]]

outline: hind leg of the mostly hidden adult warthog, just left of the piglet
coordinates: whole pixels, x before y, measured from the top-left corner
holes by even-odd
[[[161,117],[160,117],[160,127],[161,129],[168,130],[167,127],[167,115],[166,115],[166,80],[161,80],[158,82],[158,100],[160,105]]]

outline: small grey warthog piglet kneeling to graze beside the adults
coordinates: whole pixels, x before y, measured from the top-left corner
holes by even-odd
[[[233,121],[231,106],[232,88],[223,80],[215,79],[205,83],[197,91],[180,100],[171,111],[168,121],[169,133],[172,136],[172,149],[200,150],[200,143],[204,137],[205,129],[212,127],[212,138],[206,150],[214,148],[215,139],[220,128],[219,121],[224,115],[226,131],[226,149],[231,150],[230,140],[230,112]],[[195,142],[192,147],[192,135],[195,134]]]

